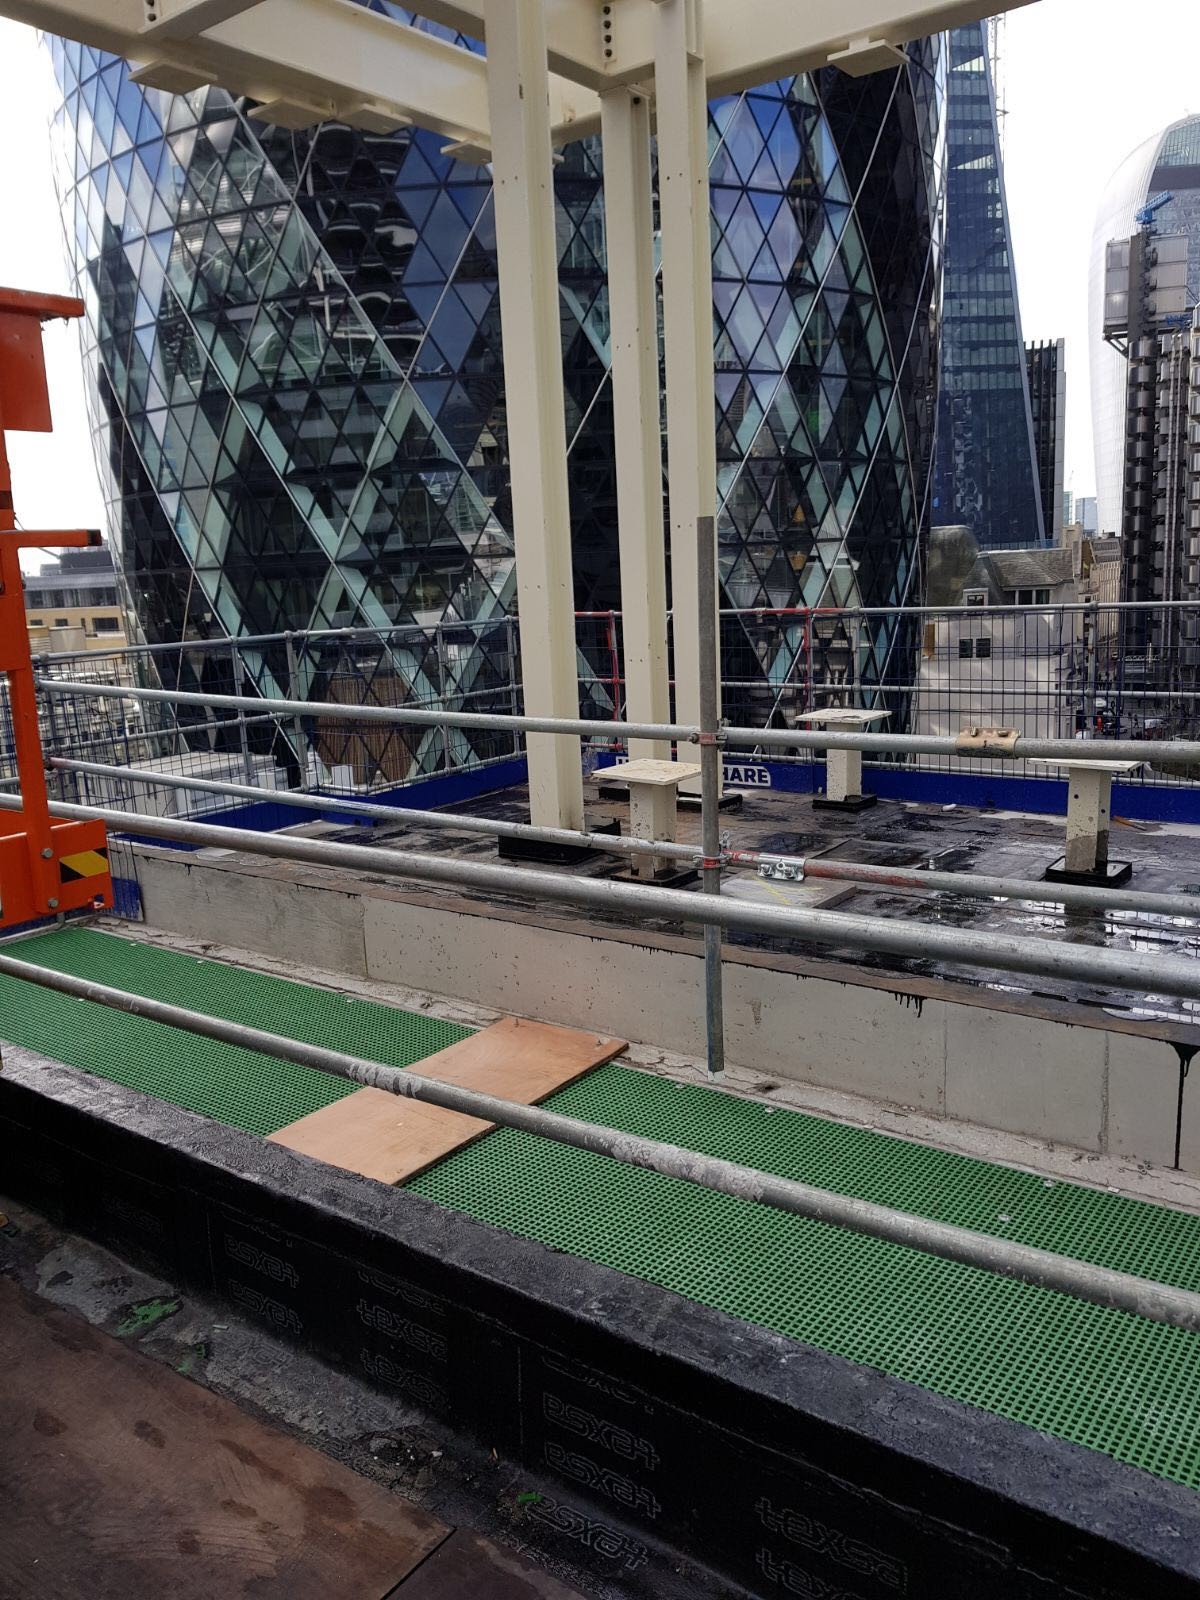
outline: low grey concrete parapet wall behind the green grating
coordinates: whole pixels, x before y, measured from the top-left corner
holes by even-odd
[[[138,846],[138,875],[154,928],[704,1054],[693,938],[226,851]],[[1186,1024],[731,947],[725,1027],[728,1061],[768,1077],[1200,1173]]]

